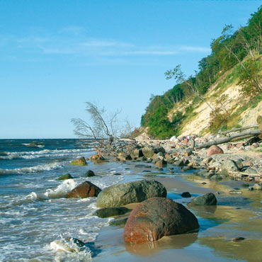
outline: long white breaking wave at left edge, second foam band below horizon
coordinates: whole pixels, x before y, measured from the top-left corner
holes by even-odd
[[[55,162],[50,164],[41,164],[37,166],[23,167],[21,169],[0,169],[0,175],[6,174],[25,174],[25,173],[38,173],[41,171],[50,171],[54,169],[61,169],[64,164],[68,162]]]

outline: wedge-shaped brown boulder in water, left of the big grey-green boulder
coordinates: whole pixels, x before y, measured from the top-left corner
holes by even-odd
[[[89,181],[81,183],[72,191],[67,193],[66,198],[91,198],[97,197],[101,189]]]

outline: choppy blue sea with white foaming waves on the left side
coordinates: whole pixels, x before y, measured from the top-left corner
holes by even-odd
[[[92,214],[95,198],[67,199],[67,192],[86,181],[87,166],[73,159],[96,152],[89,139],[0,139],[0,261],[85,261],[91,250],[66,239],[96,240],[110,219]],[[127,173],[113,164],[92,166],[89,178],[103,189]],[[64,173],[74,179],[57,181]],[[77,252],[67,252],[74,251]],[[57,252],[63,251],[64,252]],[[77,255],[76,255],[77,254]]]

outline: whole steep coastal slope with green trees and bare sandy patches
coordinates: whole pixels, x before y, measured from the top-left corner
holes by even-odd
[[[209,125],[202,132],[239,127],[241,114],[262,101],[262,6],[246,26],[233,31],[232,25],[226,25],[210,47],[211,54],[198,62],[194,75],[186,77],[180,64],[166,71],[166,79],[176,85],[149,99],[141,126],[148,127],[150,136],[180,135],[203,104]],[[239,86],[235,101],[227,92],[232,86]]]

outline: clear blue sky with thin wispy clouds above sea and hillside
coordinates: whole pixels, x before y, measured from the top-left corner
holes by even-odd
[[[261,1],[0,1],[0,138],[74,137],[84,102],[121,109],[139,126],[151,94],[187,75],[225,24]]]

